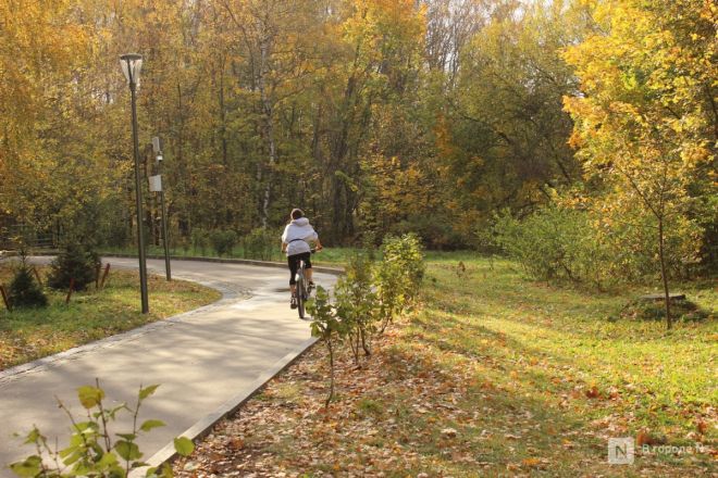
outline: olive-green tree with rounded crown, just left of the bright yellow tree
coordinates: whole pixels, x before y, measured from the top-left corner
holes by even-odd
[[[465,237],[493,212],[525,214],[579,179],[562,97],[575,90],[560,58],[583,30],[566,2],[503,4],[461,51],[456,87],[435,126],[438,173]]]

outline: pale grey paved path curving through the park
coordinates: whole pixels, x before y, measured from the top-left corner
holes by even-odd
[[[108,261],[113,267],[137,263]],[[160,274],[163,267],[162,261],[148,261],[150,272]],[[94,383],[95,377],[110,404],[134,403],[140,383],[161,383],[140,412],[140,420],[168,424],[139,441],[148,458],[310,338],[308,323],[288,306],[284,269],[173,261],[172,273],[220,289],[224,298],[170,320],[0,372],[0,477],[11,476],[7,464],[33,453],[13,432],[35,424],[51,443],[55,436],[69,436],[67,418],[53,397],[82,413],[75,390]],[[327,287],[335,277],[315,274],[314,280]],[[151,301],[150,291],[150,307]],[[126,432],[127,426],[113,431]]]

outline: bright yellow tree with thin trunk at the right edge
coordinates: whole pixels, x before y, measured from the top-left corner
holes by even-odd
[[[605,33],[566,53],[582,90],[566,109],[585,174],[601,181],[595,207],[609,228],[636,209],[653,217],[668,328],[669,264],[697,253],[691,210],[715,180],[717,13],[702,0],[602,2],[594,17]],[[669,230],[684,256],[668,248]]]

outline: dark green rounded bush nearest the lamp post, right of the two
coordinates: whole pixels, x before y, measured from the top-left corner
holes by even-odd
[[[66,242],[62,253],[50,264],[48,286],[67,290],[70,280],[75,279],[73,289],[84,290],[97,278],[100,265],[97,252],[77,242]]]

